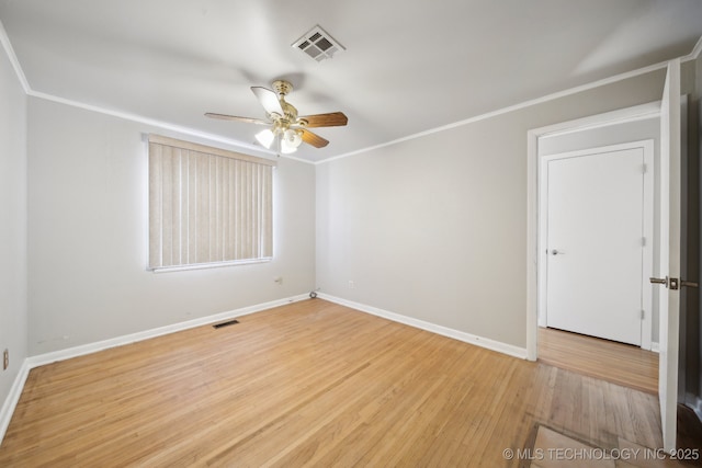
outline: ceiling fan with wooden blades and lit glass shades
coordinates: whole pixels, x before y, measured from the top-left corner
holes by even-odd
[[[268,125],[270,128],[259,132],[256,139],[265,148],[273,147],[284,155],[295,152],[303,142],[315,148],[324,148],[329,145],[329,141],[309,132],[308,128],[339,127],[347,125],[349,121],[343,112],[298,116],[297,109],[285,101],[285,96],[293,91],[293,85],[285,80],[275,80],[273,81],[273,90],[251,87],[251,91],[265,110],[265,118],[237,117],[211,112],[205,115],[225,121]]]

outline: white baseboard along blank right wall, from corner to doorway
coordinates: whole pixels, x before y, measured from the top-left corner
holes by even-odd
[[[389,312],[387,310],[378,309],[376,307],[366,306],[364,304],[359,304],[351,300],[342,299],[340,297],[330,296],[324,293],[318,293],[318,297],[320,299],[329,300],[330,303],[350,307],[352,309],[356,309],[362,312],[371,313],[377,317],[383,317],[394,322],[403,323],[409,327],[415,327],[432,333],[441,334],[443,336],[452,338],[454,340],[463,341],[465,343],[475,344],[477,346],[485,347],[491,351],[497,351],[498,353],[508,354],[510,356],[519,357],[521,359],[526,358],[525,347],[519,347],[519,346],[502,343],[499,341],[490,340],[488,338],[483,338],[483,336],[466,333],[463,331],[450,329],[446,327],[438,326],[435,323],[426,322],[423,320],[414,319],[411,317],[403,316],[395,312]]]

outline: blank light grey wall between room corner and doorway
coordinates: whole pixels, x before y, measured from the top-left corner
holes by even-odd
[[[526,132],[659,100],[663,78],[647,73],[319,164],[318,287],[525,347]]]

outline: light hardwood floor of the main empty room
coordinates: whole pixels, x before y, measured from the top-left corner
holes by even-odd
[[[661,445],[631,388],[321,299],[239,321],[33,369],[0,466],[524,466],[539,426]]]

